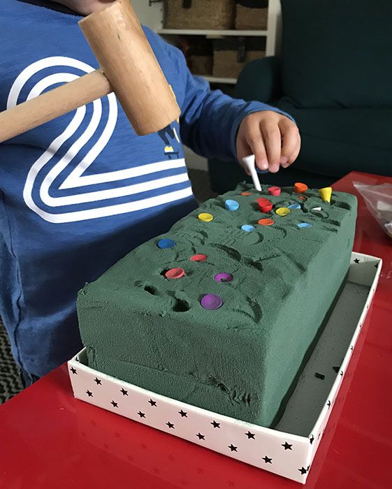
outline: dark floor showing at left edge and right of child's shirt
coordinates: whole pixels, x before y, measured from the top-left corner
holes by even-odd
[[[189,178],[198,202],[201,203],[217,196],[210,190],[207,172],[189,169]],[[6,329],[0,321],[0,404],[6,402],[20,391],[22,391],[22,383],[17,365],[11,354]]]

